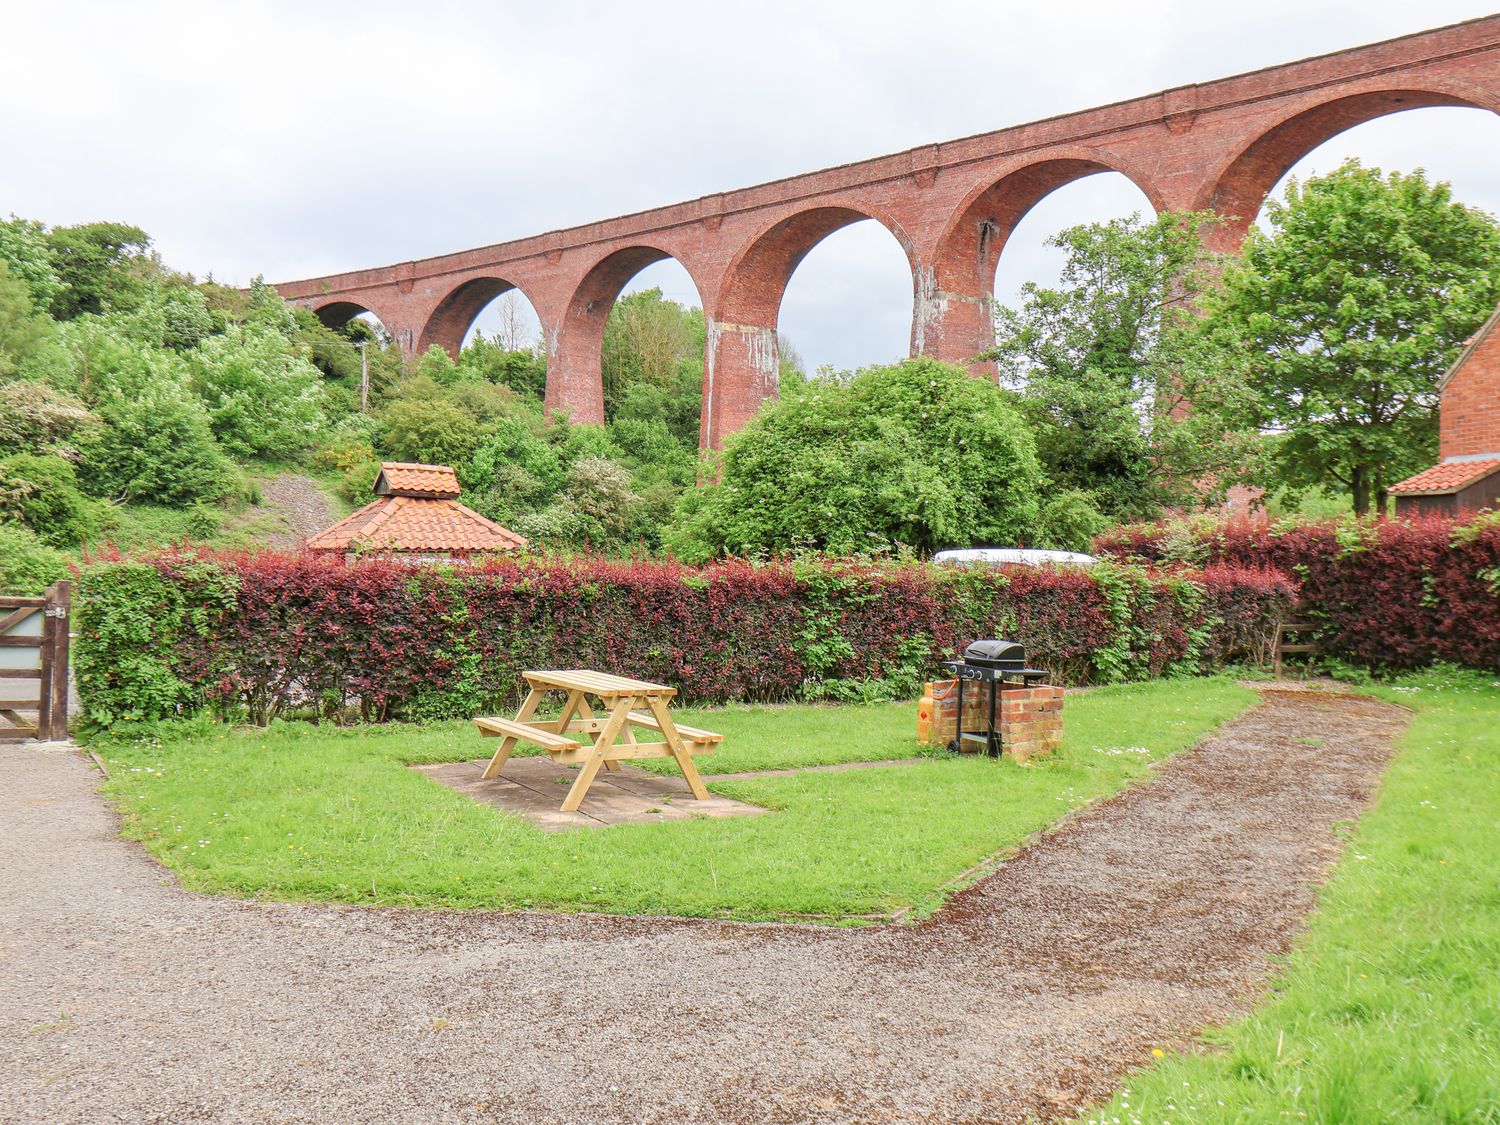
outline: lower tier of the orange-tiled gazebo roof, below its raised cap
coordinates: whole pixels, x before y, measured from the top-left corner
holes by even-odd
[[[526,540],[456,500],[381,496],[308,540],[309,550],[468,554],[516,550]]]

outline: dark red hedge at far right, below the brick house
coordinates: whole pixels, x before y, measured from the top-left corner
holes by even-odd
[[[1155,562],[1196,555],[1298,579],[1302,612],[1335,658],[1370,668],[1500,668],[1500,516],[1272,524],[1154,524],[1096,549]]]

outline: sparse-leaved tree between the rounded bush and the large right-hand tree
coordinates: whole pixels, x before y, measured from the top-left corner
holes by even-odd
[[[1062,284],[1022,286],[996,310],[990,352],[1018,394],[1052,482],[1116,518],[1185,504],[1204,477],[1242,456],[1221,440],[1224,394],[1179,410],[1182,338],[1210,278],[1202,214],[1072,226],[1047,240],[1066,254]]]

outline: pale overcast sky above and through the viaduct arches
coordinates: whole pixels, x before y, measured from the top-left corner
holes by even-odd
[[[1428,0],[1058,3],[16,3],[0,212],[118,219],[244,284],[420,258],[1486,15]],[[1500,118],[1420,110],[1347,154],[1500,212]],[[1124,177],[1040,204],[998,291],[1056,276],[1056,230],[1146,208]],[[698,303],[663,262],[632,288]],[[910,276],[873,222],[792,279],[808,366],[904,354]]]

